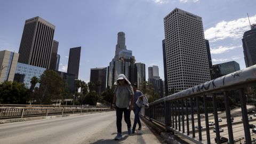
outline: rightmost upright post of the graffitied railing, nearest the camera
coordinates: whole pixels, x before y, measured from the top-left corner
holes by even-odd
[[[248,115],[247,115],[246,97],[244,94],[244,89],[239,89],[239,96],[240,96],[242,117],[243,117],[243,123],[244,123],[245,141],[246,141],[246,143],[251,144],[252,143],[251,133],[250,133],[250,129],[249,129],[249,121],[248,121]]]

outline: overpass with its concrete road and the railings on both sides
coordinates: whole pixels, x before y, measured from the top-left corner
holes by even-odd
[[[255,143],[255,135],[252,133],[250,124],[256,125],[256,118],[249,119],[247,108],[251,111],[254,106],[246,106],[245,90],[256,84],[256,66],[252,66],[235,73],[213,79],[201,85],[191,87],[190,89],[169,95],[168,97],[159,99],[149,104],[148,109],[142,110],[144,115],[151,123],[158,124],[182,137],[189,140],[189,143]],[[241,108],[231,110],[229,106],[230,91],[239,93]],[[217,95],[225,100],[225,113],[218,115]],[[210,112],[206,103],[209,103],[208,97],[211,97],[213,114]],[[1,108],[0,108],[1,109]],[[22,110],[21,110],[22,109]],[[37,110],[35,110],[37,109]],[[203,110],[203,114],[200,113]],[[115,113],[106,108],[93,107],[55,107],[55,108],[19,108],[13,109],[2,108],[1,115],[12,117],[33,116],[36,113],[43,115],[65,115],[69,113],[93,113],[108,111],[107,113],[92,114],[85,117],[77,116],[74,121],[70,117],[57,118],[46,122],[45,120],[35,121],[35,124],[27,124],[26,122],[14,124],[0,125],[1,142],[9,143],[119,143],[113,141],[115,137]],[[231,119],[231,115],[236,117]],[[242,115],[242,117],[239,117]],[[219,121],[219,118],[222,121]],[[62,122],[58,119],[66,119]],[[79,120],[81,119],[81,120]],[[42,123],[41,123],[42,121]],[[233,122],[232,122],[233,121]],[[34,121],[33,121],[34,122]],[[209,122],[214,122],[213,126]],[[51,124],[53,123],[53,124]],[[59,125],[60,123],[60,125]],[[62,124],[63,123],[63,124]],[[26,126],[23,126],[26,125]],[[155,135],[145,127],[144,133],[138,131],[137,134],[125,135],[120,143],[159,143]],[[27,128],[28,127],[28,128]],[[36,128],[38,127],[38,128]],[[53,128],[51,128],[53,127]],[[198,128],[196,128],[198,127]],[[221,127],[221,129],[219,129]],[[21,129],[20,129],[21,128]],[[50,131],[49,131],[50,130]],[[123,130],[125,124],[123,123]],[[222,132],[223,130],[223,132]],[[24,133],[22,133],[24,132]],[[78,133],[77,133],[78,132]],[[21,134],[22,133],[22,134]],[[148,135],[147,135],[148,134]],[[225,137],[223,141],[222,137]],[[28,140],[26,140],[28,139]],[[63,140],[62,140],[63,139]]]

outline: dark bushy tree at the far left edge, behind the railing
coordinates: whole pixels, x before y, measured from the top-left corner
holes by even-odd
[[[28,89],[23,83],[3,82],[0,84],[0,103],[27,104]]]

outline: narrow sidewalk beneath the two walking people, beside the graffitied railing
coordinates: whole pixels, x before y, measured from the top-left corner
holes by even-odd
[[[115,117],[113,117],[115,119]],[[134,114],[133,111],[131,111],[131,123],[133,125],[134,120]],[[105,129],[101,131],[100,133],[97,133],[93,135],[92,138],[87,139],[85,143],[91,143],[91,144],[105,144],[105,143],[161,143],[156,138],[156,136],[149,130],[149,127],[146,126],[143,121],[141,121],[142,129],[138,130],[138,124],[137,124],[137,130],[135,133],[131,135],[127,135],[127,126],[124,122],[124,117],[122,119],[122,134],[123,139],[122,140],[114,140],[117,134],[116,129],[116,121],[113,121],[110,125],[108,125],[108,129]],[[84,144],[85,144],[84,143]]]

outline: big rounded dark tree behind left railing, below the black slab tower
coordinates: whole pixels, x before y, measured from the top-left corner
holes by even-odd
[[[66,82],[53,70],[46,69],[40,76],[38,102],[51,104],[52,100],[65,99],[67,97]]]

